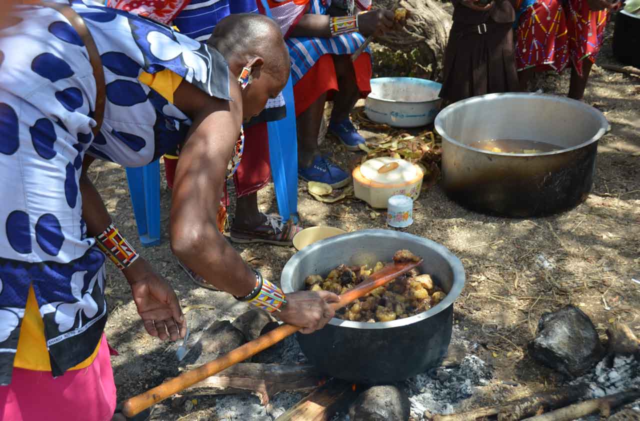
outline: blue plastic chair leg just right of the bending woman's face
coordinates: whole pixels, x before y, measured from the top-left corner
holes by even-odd
[[[269,4],[262,1],[262,7],[271,17]],[[269,158],[271,177],[276,191],[278,211],[284,221],[292,218],[298,222],[298,137],[296,136],[296,107],[293,99],[291,74],[282,91],[287,116],[277,122],[267,123],[269,131]]]

